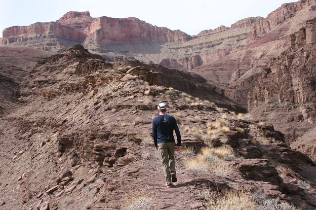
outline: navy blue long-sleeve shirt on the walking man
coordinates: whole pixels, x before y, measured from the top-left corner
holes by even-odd
[[[177,135],[177,145],[181,146],[181,135],[176,119],[167,114],[158,115],[153,120],[153,138],[155,146],[157,147],[158,143],[175,142],[173,130]]]

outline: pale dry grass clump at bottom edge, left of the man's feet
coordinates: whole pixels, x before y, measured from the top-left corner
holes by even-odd
[[[144,191],[135,192],[123,202],[123,210],[151,210],[153,209],[153,198]]]

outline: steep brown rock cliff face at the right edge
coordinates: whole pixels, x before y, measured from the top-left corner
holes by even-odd
[[[248,109],[285,134],[288,143],[316,158],[315,143],[294,142],[316,123],[316,18],[290,36],[290,48],[271,60],[248,94]],[[314,138],[315,139],[315,138]],[[302,147],[302,145],[304,145]]]

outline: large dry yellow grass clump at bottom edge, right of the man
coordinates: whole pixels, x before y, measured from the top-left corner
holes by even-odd
[[[255,210],[256,206],[257,204],[251,195],[245,192],[231,191],[210,200],[207,204],[207,210]]]

